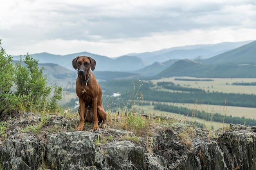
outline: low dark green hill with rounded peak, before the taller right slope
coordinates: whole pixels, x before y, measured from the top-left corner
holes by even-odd
[[[190,76],[208,78],[256,78],[255,64],[202,64],[188,59],[175,62],[152,79]]]

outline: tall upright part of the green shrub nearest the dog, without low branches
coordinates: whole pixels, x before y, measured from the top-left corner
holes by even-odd
[[[34,108],[43,110],[45,99],[51,93],[52,87],[47,86],[47,77],[43,76],[43,68],[38,67],[38,61],[28,54],[20,62],[16,63],[16,95],[22,96],[25,109]],[[24,63],[24,66],[22,64]]]

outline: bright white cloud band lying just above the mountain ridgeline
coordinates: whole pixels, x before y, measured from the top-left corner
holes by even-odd
[[[216,44],[220,42],[239,42],[252,40],[256,37],[255,29],[209,29],[183,30],[163,33],[153,33],[151,36],[129,39],[100,40],[89,42],[85,40],[46,40],[27,45],[20,44],[16,49],[9,49],[13,55],[24,55],[45,52],[66,55],[79,52],[90,52],[108,57],[117,57],[131,52],[142,53],[157,51],[172,46],[193,44]],[[7,53],[9,53],[7,51]]]

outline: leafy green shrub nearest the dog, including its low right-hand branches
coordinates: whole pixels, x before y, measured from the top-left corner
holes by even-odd
[[[49,99],[52,86],[47,86],[47,77],[43,75],[43,67],[39,69],[38,61],[30,55],[20,57],[16,63],[16,95],[22,99],[25,110],[55,111],[61,99],[62,88],[54,85],[55,91]]]

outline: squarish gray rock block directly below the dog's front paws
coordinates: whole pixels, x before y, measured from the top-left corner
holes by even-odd
[[[99,134],[77,131],[59,132],[48,136],[47,158],[52,170],[84,170],[94,166]]]

